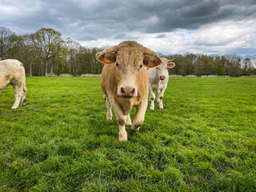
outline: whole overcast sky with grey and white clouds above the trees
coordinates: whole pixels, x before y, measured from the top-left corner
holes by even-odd
[[[256,0],[0,0],[0,13],[16,34],[52,28],[86,47],[256,57]]]

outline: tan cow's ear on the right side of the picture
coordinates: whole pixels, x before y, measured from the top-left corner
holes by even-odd
[[[158,54],[154,53],[153,50],[150,50],[144,47],[144,59],[143,64],[146,67],[153,68],[155,66],[161,65],[162,61]]]

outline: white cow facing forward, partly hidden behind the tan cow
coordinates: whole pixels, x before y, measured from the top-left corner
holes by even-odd
[[[173,68],[175,66],[175,63],[173,62],[174,59],[167,60],[166,58],[161,58],[161,60],[162,65],[154,69],[148,69],[150,78],[150,110],[154,110],[154,91],[158,93],[157,102],[159,102],[159,109],[163,110],[162,98],[169,80],[169,73],[167,68]]]

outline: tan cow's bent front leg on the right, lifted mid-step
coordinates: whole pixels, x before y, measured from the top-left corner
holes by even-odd
[[[137,107],[136,114],[134,116],[134,122],[131,125],[131,130],[138,131],[139,127],[142,126],[144,122],[146,113],[147,100],[143,100]]]

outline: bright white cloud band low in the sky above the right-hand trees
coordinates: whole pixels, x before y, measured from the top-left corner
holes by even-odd
[[[132,33],[130,33],[132,35]],[[137,42],[162,54],[246,54],[256,53],[256,21],[217,22],[198,30],[174,30],[165,34],[134,34]],[[161,38],[158,38],[158,37]],[[122,38],[123,37],[123,38]],[[101,38],[83,46],[114,46],[126,40]]]

